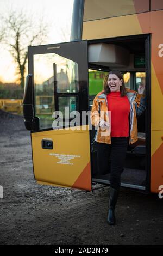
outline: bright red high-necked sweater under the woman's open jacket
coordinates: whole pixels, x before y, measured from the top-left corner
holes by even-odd
[[[130,102],[127,96],[120,95],[120,92],[107,95],[108,111],[111,111],[111,137],[129,136]]]

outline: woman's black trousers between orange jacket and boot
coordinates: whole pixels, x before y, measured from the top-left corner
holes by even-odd
[[[128,137],[111,137],[111,144],[95,142],[99,174],[110,172],[110,186],[116,190],[121,185],[121,173],[126,159]]]

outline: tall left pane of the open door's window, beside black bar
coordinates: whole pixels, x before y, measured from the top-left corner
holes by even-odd
[[[34,55],[35,115],[39,117],[40,130],[52,127],[55,110],[52,61],[53,54]]]

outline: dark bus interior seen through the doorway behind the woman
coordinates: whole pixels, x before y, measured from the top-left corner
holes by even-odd
[[[147,38],[145,36],[90,41],[88,48],[90,110],[94,97],[103,88],[103,78],[110,70],[122,72],[126,88],[137,91],[140,83],[147,84]],[[95,86],[94,89],[93,86]],[[121,174],[121,186],[138,190],[146,190],[148,184],[146,112],[147,109],[141,116],[137,117],[138,141],[128,145],[126,164]],[[90,131],[92,182],[94,184],[109,184],[110,167],[108,167],[106,174],[97,169],[95,133],[95,130]]]

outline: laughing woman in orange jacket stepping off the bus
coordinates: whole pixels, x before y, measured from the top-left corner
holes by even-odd
[[[121,185],[121,173],[126,159],[128,143],[137,141],[136,115],[145,110],[145,85],[138,93],[125,88],[120,71],[110,71],[104,80],[104,90],[93,100],[91,123],[97,126],[95,141],[97,161],[105,173],[110,166],[110,201],[107,222],[115,224],[115,206]]]

